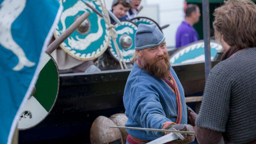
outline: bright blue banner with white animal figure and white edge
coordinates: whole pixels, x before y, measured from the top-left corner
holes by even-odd
[[[0,143],[11,143],[63,7],[57,0],[0,0]]]

